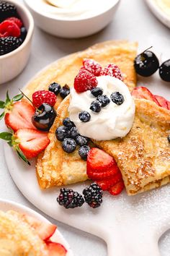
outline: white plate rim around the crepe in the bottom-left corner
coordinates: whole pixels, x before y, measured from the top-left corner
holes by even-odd
[[[0,210],[7,211],[7,210],[15,210],[18,213],[27,213],[29,216],[36,218],[37,220],[49,222],[46,218],[41,216],[39,213],[36,213],[35,210],[27,208],[24,205],[21,205],[17,202],[9,201],[9,200],[2,200],[0,199]],[[63,244],[64,247],[67,249],[66,256],[73,256],[73,252],[71,252],[70,246],[68,242],[63,238],[62,234],[58,229],[56,229],[55,234],[53,234],[53,242],[59,242]]]

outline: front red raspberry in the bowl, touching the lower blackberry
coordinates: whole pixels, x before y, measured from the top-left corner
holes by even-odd
[[[4,20],[4,22],[1,22],[0,24],[0,33],[8,33],[8,36],[14,36],[19,38],[20,36],[20,29],[19,27],[10,20]]]

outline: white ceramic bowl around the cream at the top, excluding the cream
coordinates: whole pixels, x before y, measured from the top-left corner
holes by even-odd
[[[119,2],[120,0],[112,0],[109,9],[104,9],[103,12],[95,16],[69,20],[67,17],[59,18],[49,12],[42,12],[36,7],[33,0],[24,0],[27,8],[32,12],[36,25],[45,32],[62,38],[81,38],[102,30],[112,21]]]

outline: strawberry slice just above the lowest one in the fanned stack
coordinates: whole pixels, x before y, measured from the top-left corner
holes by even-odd
[[[107,179],[98,180],[97,184],[102,188],[102,190],[108,190],[110,187],[117,184],[117,182],[120,182],[121,179],[122,174],[120,171],[118,171],[114,176],[111,176]]]

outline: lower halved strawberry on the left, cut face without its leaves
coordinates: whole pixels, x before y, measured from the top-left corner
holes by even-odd
[[[47,133],[36,129],[18,129],[14,136],[26,158],[35,158],[50,142]]]

